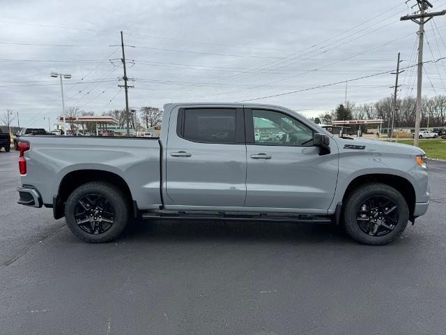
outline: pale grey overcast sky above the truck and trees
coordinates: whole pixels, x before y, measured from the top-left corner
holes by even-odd
[[[432,3],[433,10],[446,8],[446,0]],[[123,108],[124,92],[117,87],[123,84],[116,46],[121,30],[128,77],[134,78],[130,106],[137,108],[246,101],[394,70],[398,52],[401,67],[415,62],[418,26],[399,21],[414,4],[0,0],[0,114],[6,108],[19,112],[21,126],[47,127],[44,117],[54,124],[61,91],[52,71],[72,74],[64,81],[66,107],[97,114]],[[446,17],[425,29],[432,52],[425,42],[424,60],[446,56]],[[443,61],[425,69],[436,93],[446,94]],[[415,95],[415,71],[402,73],[400,83],[400,96]],[[390,96],[393,84],[390,73],[348,82],[347,99],[376,101]],[[424,94],[433,95],[426,76],[423,84]],[[341,83],[252,102],[314,117],[343,102],[345,88]]]

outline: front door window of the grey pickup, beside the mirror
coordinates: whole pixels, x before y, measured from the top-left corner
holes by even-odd
[[[312,146],[313,131],[298,120],[271,110],[252,110],[254,143],[261,145]]]

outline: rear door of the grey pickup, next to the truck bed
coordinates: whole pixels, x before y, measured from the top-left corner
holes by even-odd
[[[166,158],[170,205],[243,207],[246,165],[243,108],[172,111]]]

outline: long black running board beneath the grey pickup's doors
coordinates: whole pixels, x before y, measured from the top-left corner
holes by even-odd
[[[332,223],[331,216],[282,213],[234,213],[203,211],[148,211],[142,214],[148,220],[196,220],[196,221],[261,221],[282,223]]]

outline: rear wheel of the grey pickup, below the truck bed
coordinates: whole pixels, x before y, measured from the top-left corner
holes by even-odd
[[[123,232],[130,218],[128,199],[118,187],[93,181],[73,191],[65,206],[68,228],[79,239],[109,242]]]

